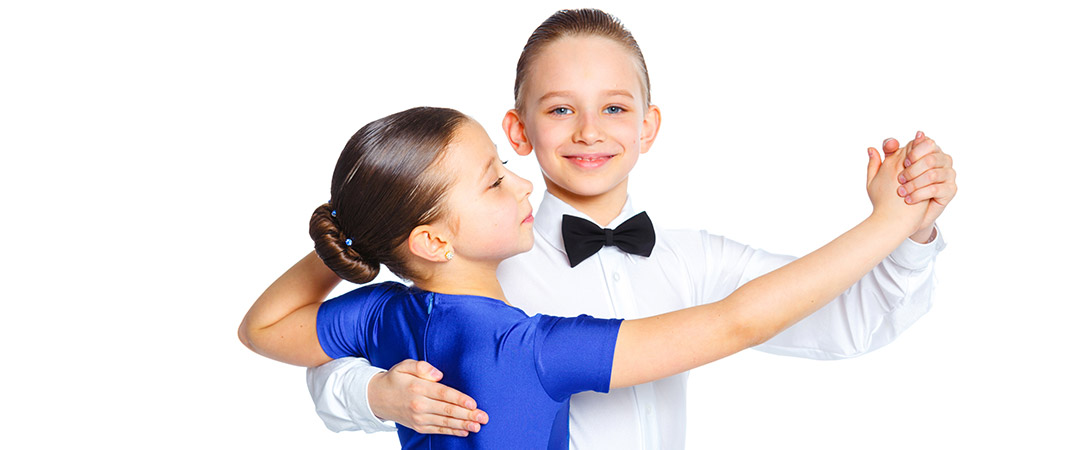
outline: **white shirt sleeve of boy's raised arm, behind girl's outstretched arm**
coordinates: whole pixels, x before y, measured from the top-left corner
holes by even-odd
[[[796,258],[707,235],[703,298],[723,299],[739,286]],[[812,359],[840,359],[877,350],[930,310],[934,262],[945,248],[940,230],[929,244],[905,240],[869,273],[809,317],[755,349]]]

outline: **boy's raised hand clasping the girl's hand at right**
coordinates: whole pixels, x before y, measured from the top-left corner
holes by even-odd
[[[900,149],[896,139],[886,139],[881,145],[886,155]],[[945,206],[956,196],[956,171],[953,169],[953,156],[942,151],[937,144],[922,132],[915,135],[915,140],[908,142],[907,158],[904,171],[896,177],[900,188],[896,194],[909,204],[929,200],[927,214],[919,223],[919,230],[912,234],[912,240],[927,243],[933,237],[934,221],[945,210]]]

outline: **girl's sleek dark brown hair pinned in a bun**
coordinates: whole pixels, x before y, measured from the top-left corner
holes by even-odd
[[[445,215],[450,185],[433,166],[470,119],[453,109],[413,108],[352,135],[334,168],[330,201],[315,208],[315,253],[343,279],[367,283],[379,264],[404,278],[417,273],[403,244],[413,229]]]

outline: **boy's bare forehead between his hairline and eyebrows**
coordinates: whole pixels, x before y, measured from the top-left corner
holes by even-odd
[[[541,50],[525,79],[525,95],[536,100],[548,92],[577,94],[624,90],[644,101],[642,68],[622,44],[598,36],[567,37]]]

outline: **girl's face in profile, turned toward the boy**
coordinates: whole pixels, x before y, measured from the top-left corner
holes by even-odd
[[[532,183],[507,169],[480,124],[458,129],[442,165],[455,258],[499,262],[532,247]]]

